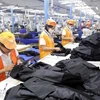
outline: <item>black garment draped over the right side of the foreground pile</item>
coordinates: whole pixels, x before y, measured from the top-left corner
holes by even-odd
[[[82,78],[83,85],[86,90],[93,94],[100,96],[100,70],[94,65],[82,61],[82,59],[63,60],[58,62],[56,67],[62,69],[62,71],[79,74]]]

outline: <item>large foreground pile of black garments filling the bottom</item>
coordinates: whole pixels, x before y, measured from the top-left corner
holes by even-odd
[[[99,68],[80,58],[55,66],[24,63],[11,76],[24,83],[9,89],[4,100],[100,100]]]

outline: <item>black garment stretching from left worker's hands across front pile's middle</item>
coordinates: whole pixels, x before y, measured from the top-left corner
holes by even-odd
[[[36,63],[33,66],[29,65],[29,67],[24,66],[25,65],[15,66],[10,75],[21,81],[37,77],[39,79],[72,87],[76,85],[82,86],[83,84],[80,75],[74,75],[68,72],[62,73],[59,68],[53,68],[52,66],[42,62]]]

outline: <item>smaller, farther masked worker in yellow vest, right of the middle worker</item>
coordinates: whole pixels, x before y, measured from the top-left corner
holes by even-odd
[[[72,33],[72,28],[75,24],[74,20],[67,20],[67,25],[66,27],[63,29],[62,32],[62,45],[66,45],[69,42],[73,42],[74,41],[74,36]]]

